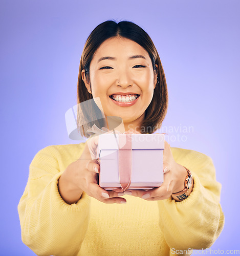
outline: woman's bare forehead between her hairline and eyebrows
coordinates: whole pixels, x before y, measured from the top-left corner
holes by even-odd
[[[108,38],[102,42],[100,47],[94,54],[94,58],[102,56],[111,56],[111,57],[128,57],[132,55],[143,55],[146,59],[150,57],[148,52],[141,47],[137,42],[121,37]]]

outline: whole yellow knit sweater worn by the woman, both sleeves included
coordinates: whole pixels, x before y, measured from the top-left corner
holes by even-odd
[[[84,146],[47,146],[30,164],[18,214],[22,240],[37,255],[190,255],[188,249],[210,247],[219,237],[221,184],[210,157],[171,147],[174,160],[193,175],[192,193],[182,202],[125,195],[126,204],[105,204],[83,192],[69,205],[59,195],[58,179]]]

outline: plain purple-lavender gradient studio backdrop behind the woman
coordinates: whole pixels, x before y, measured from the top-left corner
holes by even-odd
[[[240,2],[2,0],[0,5],[0,254],[36,255],[21,242],[17,212],[29,165],[43,147],[79,143],[68,137],[64,115],[77,104],[85,40],[107,19],[132,20],[154,41],[169,91],[166,140],[210,156],[222,183],[225,227],[211,249],[240,249]]]

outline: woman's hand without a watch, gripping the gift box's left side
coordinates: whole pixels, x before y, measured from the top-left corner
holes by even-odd
[[[64,182],[62,181],[64,186],[69,187],[68,193],[66,192],[64,195],[66,195],[66,198],[70,198],[71,195],[69,195],[69,191],[72,191],[72,195],[77,195],[72,197],[72,199],[75,198],[73,201],[76,201],[76,198],[79,200],[82,191],[84,191],[90,197],[94,197],[103,203],[126,202],[124,198],[117,197],[118,193],[116,191],[105,190],[98,185],[100,166],[96,159],[97,145],[98,136],[90,138],[85,144],[81,157],[71,163],[63,172],[60,179],[62,178],[64,180]],[[73,203],[72,200],[69,201]]]

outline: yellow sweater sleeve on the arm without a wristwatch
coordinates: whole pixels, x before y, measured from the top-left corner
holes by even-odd
[[[58,191],[60,172],[54,146],[40,150],[18,204],[23,242],[37,255],[77,255],[88,229],[90,198],[67,204]]]

